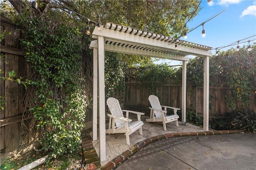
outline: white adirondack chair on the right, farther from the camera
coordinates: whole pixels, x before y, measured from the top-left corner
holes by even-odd
[[[148,100],[150,102],[151,107],[150,109],[150,119],[146,119],[146,122],[163,122],[164,130],[166,131],[166,123],[175,121],[176,126],[178,127],[178,118],[177,110],[180,110],[176,107],[170,107],[170,106],[161,106],[158,97],[155,95],[150,95],[148,97]],[[164,107],[164,110],[162,110],[162,107]],[[167,108],[174,110],[174,115],[166,115]]]

